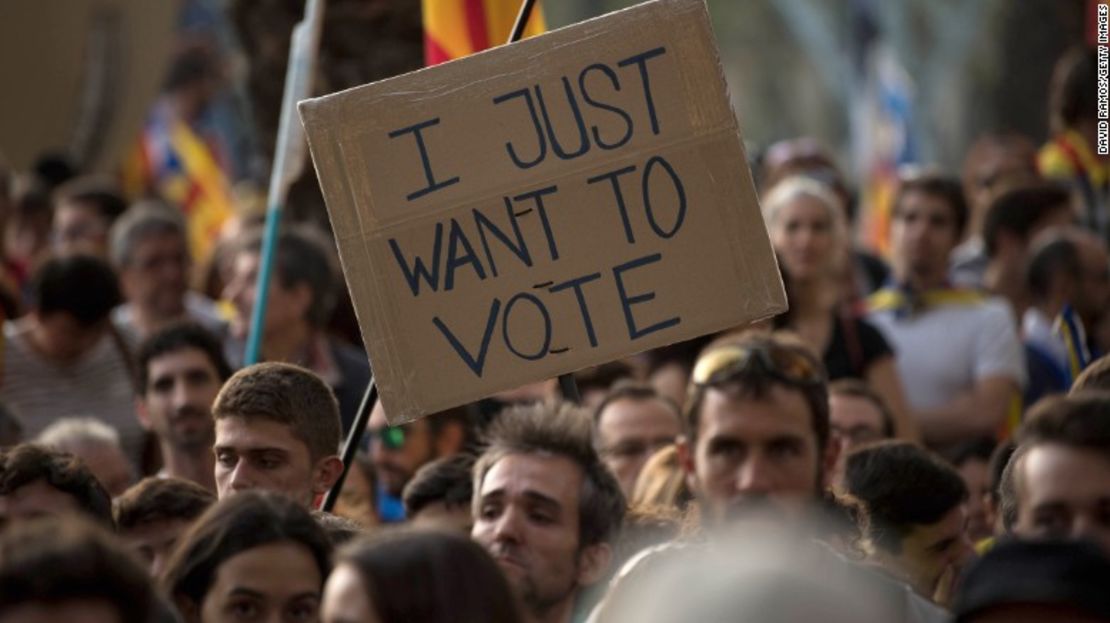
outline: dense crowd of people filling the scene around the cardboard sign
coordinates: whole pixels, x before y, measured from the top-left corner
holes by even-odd
[[[350,465],[371,370],[331,232],[283,227],[243,365],[256,215],[194,258],[164,194],[3,168],[0,621],[1110,621],[1093,84],[1069,54],[1043,148],[902,171],[887,259],[831,152],[771,145],[787,313],[581,399],[376,403]]]

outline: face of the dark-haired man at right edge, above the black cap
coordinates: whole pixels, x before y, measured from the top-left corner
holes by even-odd
[[[1020,461],[1013,532],[1092,539],[1110,552],[1110,460],[1092,450],[1046,443]]]

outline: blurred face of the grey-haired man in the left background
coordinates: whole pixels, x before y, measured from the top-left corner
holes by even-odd
[[[158,233],[140,240],[128,264],[120,268],[120,284],[128,301],[159,318],[182,315],[189,285],[184,239],[175,233]]]

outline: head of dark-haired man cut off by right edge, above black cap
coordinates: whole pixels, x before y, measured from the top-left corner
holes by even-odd
[[[1110,394],[1038,403],[1006,472],[1015,534],[1087,537],[1110,552]]]

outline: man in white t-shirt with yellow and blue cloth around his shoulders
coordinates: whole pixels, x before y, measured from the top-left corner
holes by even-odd
[[[948,282],[948,258],[968,220],[960,183],[904,175],[892,210],[896,284],[871,297],[869,320],[897,353],[922,436],[944,445],[997,434],[1017,404],[1025,363],[1006,301]]]

